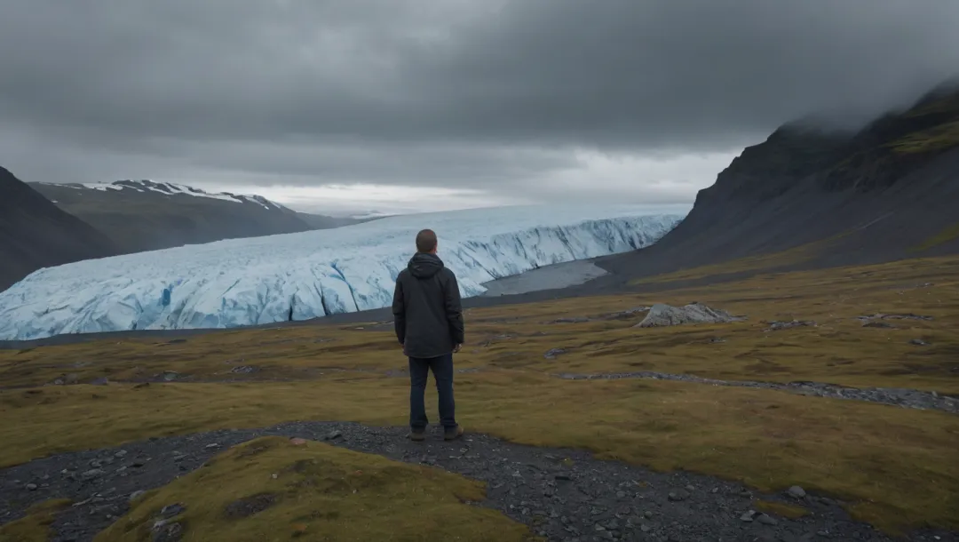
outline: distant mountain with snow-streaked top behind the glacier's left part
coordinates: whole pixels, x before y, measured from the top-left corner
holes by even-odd
[[[60,208],[106,232],[124,252],[351,224],[297,213],[260,196],[210,194],[168,182],[33,186]]]

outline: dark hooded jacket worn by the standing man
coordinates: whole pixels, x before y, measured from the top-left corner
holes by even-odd
[[[456,274],[435,254],[417,252],[396,277],[396,338],[411,358],[449,354],[463,342],[463,309]]]

